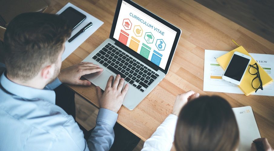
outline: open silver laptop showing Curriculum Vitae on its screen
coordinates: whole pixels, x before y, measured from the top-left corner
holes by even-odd
[[[105,89],[120,74],[129,84],[123,105],[133,110],[166,76],[181,30],[130,0],[118,0],[111,33],[83,62],[104,70],[84,77]]]

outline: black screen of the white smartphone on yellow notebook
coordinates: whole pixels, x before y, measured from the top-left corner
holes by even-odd
[[[249,59],[234,54],[226,69],[224,76],[240,81],[248,63]]]

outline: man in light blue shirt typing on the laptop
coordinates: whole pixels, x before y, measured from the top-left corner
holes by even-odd
[[[102,71],[85,62],[59,74],[70,35],[65,21],[53,14],[24,13],[9,23],[4,37],[5,64],[0,64],[0,150],[111,148],[117,111],[128,90],[128,84],[123,88],[123,78],[111,76],[103,94],[96,88],[100,109],[87,142],[73,117],[55,105],[54,88],[61,83],[91,85],[80,77]]]

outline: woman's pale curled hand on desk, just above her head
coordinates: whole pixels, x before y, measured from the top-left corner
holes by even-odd
[[[174,106],[173,106],[173,112],[174,115],[179,115],[181,109],[185,104],[187,104],[188,101],[194,98],[198,98],[200,96],[199,93],[195,93],[194,91],[190,90],[188,92],[185,92],[183,94],[179,94],[176,97]]]

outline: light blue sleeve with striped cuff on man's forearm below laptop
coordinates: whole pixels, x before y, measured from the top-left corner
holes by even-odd
[[[113,127],[117,121],[118,114],[100,108],[96,119],[96,126],[87,141],[90,150],[105,151],[109,150],[114,142]]]

